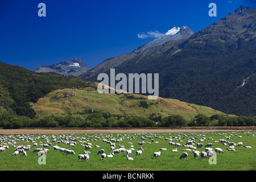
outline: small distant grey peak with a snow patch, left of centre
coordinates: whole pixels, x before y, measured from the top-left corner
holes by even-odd
[[[90,68],[78,57],[68,60],[65,62],[60,62],[57,64],[52,64],[49,66],[40,66],[35,69],[37,73],[48,73],[48,72],[55,72],[59,73],[60,75],[65,76],[79,76],[84,72],[89,71]]]

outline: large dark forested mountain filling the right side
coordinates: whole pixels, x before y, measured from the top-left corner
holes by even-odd
[[[240,6],[183,42],[170,42],[118,65],[115,74],[159,73],[160,97],[256,115],[255,8]]]

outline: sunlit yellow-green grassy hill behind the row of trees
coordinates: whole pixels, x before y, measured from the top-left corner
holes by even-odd
[[[191,119],[197,114],[212,116],[224,114],[210,107],[188,104],[171,98],[148,100],[137,94],[100,94],[97,90],[59,89],[48,93],[38,102],[31,103],[37,117],[73,115],[85,118],[90,113],[121,116],[150,117],[150,114],[167,117],[180,114]]]

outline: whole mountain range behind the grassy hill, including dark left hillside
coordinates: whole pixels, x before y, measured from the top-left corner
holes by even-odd
[[[35,70],[55,73],[22,69],[12,76],[6,70],[18,68],[3,63],[0,66],[4,70],[0,74],[2,108],[19,115],[34,115],[28,102],[35,103],[53,90],[92,86],[79,78],[65,80],[60,75],[97,82],[99,73],[110,75],[110,69],[114,68],[115,74],[159,73],[160,97],[212,107],[226,114],[253,116],[256,115],[256,9],[240,6],[195,33],[188,26],[172,26],[160,38],[110,57],[92,69],[79,58]]]

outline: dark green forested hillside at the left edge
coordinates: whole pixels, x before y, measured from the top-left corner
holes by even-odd
[[[96,88],[91,82],[57,73],[35,73],[25,68],[0,62],[0,113],[34,118],[30,102],[56,89]]]

